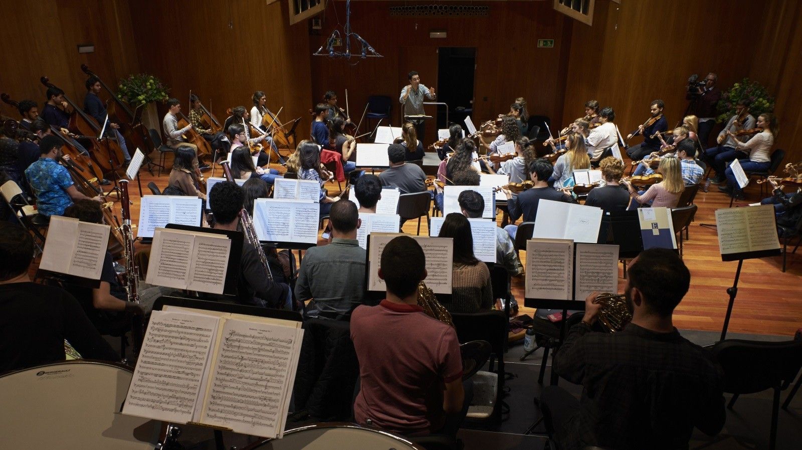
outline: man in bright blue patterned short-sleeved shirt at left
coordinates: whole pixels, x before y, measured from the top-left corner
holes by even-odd
[[[61,216],[73,201],[89,199],[103,202],[103,197],[87,197],[75,188],[70,172],[57,161],[62,157],[62,143],[56,136],[45,136],[39,141],[42,155],[30,164],[25,176],[36,196],[38,213],[44,217]],[[70,164],[69,156],[64,156]]]

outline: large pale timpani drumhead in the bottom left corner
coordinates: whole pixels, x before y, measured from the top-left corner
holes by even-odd
[[[132,376],[86,359],[0,376],[2,447],[152,450],[161,423],[119,414]]]

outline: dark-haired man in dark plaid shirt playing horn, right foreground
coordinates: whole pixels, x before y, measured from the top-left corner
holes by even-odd
[[[693,428],[715,435],[724,426],[720,374],[706,351],[684,339],[671,314],[687,293],[691,273],[670,249],[648,249],[630,265],[624,330],[592,330],[601,305],[585,299],[553,370],[583,387],[581,401],[545,387],[541,408],[557,448],[688,448]]]

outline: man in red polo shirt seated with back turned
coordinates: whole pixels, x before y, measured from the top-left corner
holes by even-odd
[[[460,343],[451,326],[423,313],[416,302],[425,266],[414,239],[395,237],[379,266],[387,298],[351,314],[361,383],[354,416],[359,424],[392,432],[456,435],[467,411]]]

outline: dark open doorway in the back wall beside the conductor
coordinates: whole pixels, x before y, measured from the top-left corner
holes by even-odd
[[[473,112],[476,47],[439,47],[437,54],[437,101],[448,104],[448,123],[446,108],[437,108],[437,128],[448,128],[449,124],[465,128],[465,117]]]

